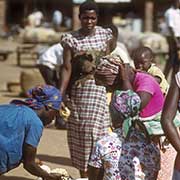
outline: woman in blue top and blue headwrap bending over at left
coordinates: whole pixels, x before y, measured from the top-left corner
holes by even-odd
[[[53,86],[36,86],[27,98],[0,105],[0,175],[23,163],[34,176],[58,180],[35,162],[43,127],[52,122],[59,111],[61,94]]]

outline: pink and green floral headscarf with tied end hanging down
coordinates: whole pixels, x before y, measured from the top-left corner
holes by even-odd
[[[124,119],[122,128],[125,136],[128,134],[132,121],[138,119],[140,104],[140,97],[132,90],[116,90],[113,94],[110,103],[111,114],[112,116],[118,114]]]

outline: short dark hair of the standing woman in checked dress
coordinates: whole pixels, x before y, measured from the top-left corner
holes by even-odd
[[[88,11],[88,10],[94,10],[96,14],[99,14],[99,9],[95,2],[85,1],[79,7],[79,15],[85,13],[85,11]]]

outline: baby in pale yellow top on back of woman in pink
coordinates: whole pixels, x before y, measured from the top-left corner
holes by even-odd
[[[169,84],[161,69],[153,63],[154,55],[150,48],[140,47],[133,53],[133,60],[136,69],[146,71],[155,77],[164,95],[167,94]]]

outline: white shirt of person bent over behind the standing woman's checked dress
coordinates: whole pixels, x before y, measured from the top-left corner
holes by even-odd
[[[63,47],[60,43],[49,47],[38,59],[37,64],[43,64],[51,69],[63,64]]]

